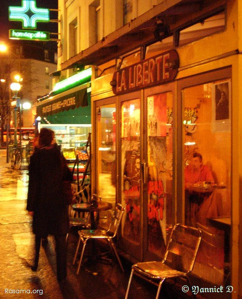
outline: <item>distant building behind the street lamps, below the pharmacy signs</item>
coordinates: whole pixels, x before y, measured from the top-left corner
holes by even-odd
[[[57,51],[44,45],[23,43],[22,41],[1,41],[6,52],[0,53],[0,88],[1,88],[1,116],[2,131],[4,125],[14,126],[13,107],[10,107],[14,93],[10,90],[11,83],[15,82],[15,75],[19,75],[21,89],[18,96],[21,103],[29,102],[31,109],[21,109],[21,117],[17,118],[17,127],[33,127],[36,115],[37,99],[52,90],[52,78],[49,76],[57,69]],[[10,107],[10,109],[9,109]],[[3,140],[6,141],[6,140]]]

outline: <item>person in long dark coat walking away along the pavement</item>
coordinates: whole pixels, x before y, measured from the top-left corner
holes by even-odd
[[[35,263],[37,270],[41,238],[54,235],[58,280],[66,278],[66,234],[69,230],[68,206],[62,193],[62,181],[72,175],[57,144],[54,132],[42,128],[39,148],[30,158],[27,210],[33,216]]]

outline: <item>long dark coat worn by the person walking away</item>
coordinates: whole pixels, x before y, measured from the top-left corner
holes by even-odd
[[[37,236],[68,233],[68,206],[61,191],[62,180],[71,180],[68,171],[57,146],[38,149],[30,157],[27,210],[33,211],[32,227]]]

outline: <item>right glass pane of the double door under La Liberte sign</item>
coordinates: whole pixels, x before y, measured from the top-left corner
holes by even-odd
[[[172,92],[147,97],[148,253],[162,256],[172,224]]]

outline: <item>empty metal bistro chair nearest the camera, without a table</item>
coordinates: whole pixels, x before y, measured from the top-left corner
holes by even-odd
[[[128,298],[133,275],[158,286],[156,299],[161,286],[167,278],[184,277],[191,285],[188,273],[192,271],[201,240],[201,231],[197,228],[176,224],[170,235],[164,259],[160,262],[143,262],[132,266],[125,295]]]

